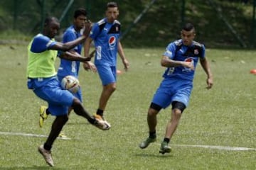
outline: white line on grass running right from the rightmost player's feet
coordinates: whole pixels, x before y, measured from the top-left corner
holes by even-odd
[[[225,146],[214,146],[214,145],[173,145],[177,147],[202,147],[208,149],[220,149],[220,150],[231,150],[231,151],[256,151],[256,148],[248,147],[225,147]]]

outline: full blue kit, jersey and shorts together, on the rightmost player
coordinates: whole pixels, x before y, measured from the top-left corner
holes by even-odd
[[[192,62],[195,69],[199,58],[205,57],[205,47],[193,41],[190,46],[183,45],[182,40],[171,42],[163,54],[175,61]],[[173,101],[178,101],[188,106],[193,89],[195,70],[186,67],[169,67],[164,72],[164,80],[154,94],[152,103],[161,108],[168,107]]]

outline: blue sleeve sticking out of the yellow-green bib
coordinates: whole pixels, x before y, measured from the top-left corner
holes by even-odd
[[[50,38],[39,35],[33,39],[31,44],[31,52],[39,53],[48,50],[49,47],[55,45],[56,42],[54,40],[50,40]]]

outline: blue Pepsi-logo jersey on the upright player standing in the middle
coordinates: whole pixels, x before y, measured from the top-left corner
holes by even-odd
[[[95,64],[107,64],[115,66],[117,64],[117,47],[119,42],[121,24],[115,20],[107,23],[107,19],[92,26],[90,38],[95,42],[96,55]]]

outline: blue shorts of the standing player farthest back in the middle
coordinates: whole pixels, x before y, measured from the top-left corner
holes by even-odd
[[[117,81],[117,69],[114,66],[96,65],[102,85],[112,84]]]

